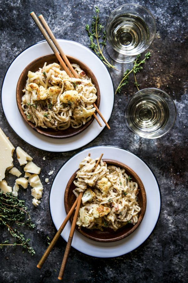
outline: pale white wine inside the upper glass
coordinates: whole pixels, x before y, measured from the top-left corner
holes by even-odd
[[[139,54],[149,41],[149,27],[141,17],[127,13],[110,23],[108,41],[112,48],[124,55]]]

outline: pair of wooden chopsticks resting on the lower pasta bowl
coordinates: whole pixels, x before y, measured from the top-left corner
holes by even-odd
[[[90,153],[88,154],[88,156],[90,156]],[[103,156],[103,153],[101,154],[100,158],[98,159],[98,161],[97,161],[93,171],[95,170],[95,168],[97,168],[98,164],[100,163],[100,161],[102,159],[102,156]],[[83,192],[80,192],[79,196],[76,198],[75,203],[73,204],[73,206],[71,207],[69,213],[67,214],[65,220],[63,221],[63,223],[61,224],[59,230],[57,231],[57,233],[55,234],[53,240],[51,241],[49,247],[46,249],[46,251],[44,252],[42,258],[40,259],[39,263],[37,264],[37,267],[39,269],[42,268],[44,262],[46,261],[47,257],[49,256],[51,250],[53,249],[55,243],[57,242],[57,240],[60,237],[63,229],[65,228],[65,225],[67,224],[68,220],[70,219],[71,215],[73,214],[73,212],[74,212],[74,210],[76,208],[75,215],[74,215],[74,218],[73,218],[73,222],[72,222],[72,225],[71,225],[71,230],[70,230],[69,238],[68,238],[67,245],[66,245],[66,248],[65,248],[65,253],[64,253],[63,260],[62,260],[59,276],[58,276],[59,280],[63,279],[63,275],[64,275],[64,272],[65,272],[65,267],[66,267],[66,263],[67,263],[67,259],[68,259],[68,256],[69,256],[70,247],[71,247],[71,243],[72,243],[72,239],[73,239],[73,235],[74,235],[74,231],[75,231],[75,227],[76,227],[76,220],[77,220],[77,217],[78,217],[82,196],[83,196]]]

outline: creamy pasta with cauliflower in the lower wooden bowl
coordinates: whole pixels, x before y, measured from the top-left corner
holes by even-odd
[[[113,230],[138,222],[140,207],[137,202],[138,184],[133,182],[125,169],[107,165],[101,160],[93,171],[96,159],[86,157],[79,165],[73,191],[76,197],[84,191],[77,219],[79,227]]]

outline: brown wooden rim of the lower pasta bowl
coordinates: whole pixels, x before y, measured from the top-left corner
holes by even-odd
[[[104,238],[97,238],[95,236],[91,236],[91,235],[88,235],[86,232],[84,232],[83,230],[79,229],[78,226],[76,225],[76,230],[78,232],[80,232],[83,236],[91,239],[91,240],[94,240],[94,241],[98,241],[98,242],[112,242],[112,241],[119,241],[125,237],[127,237],[128,235],[130,235],[137,227],[138,225],[142,222],[143,218],[144,218],[144,214],[145,214],[145,211],[146,211],[146,205],[147,205],[147,197],[146,197],[146,191],[145,191],[145,188],[144,188],[144,185],[142,183],[142,180],[139,178],[139,176],[133,171],[133,169],[131,169],[129,166],[127,166],[126,164],[122,163],[122,162],[119,162],[117,160],[112,160],[112,159],[102,159],[102,161],[106,162],[107,164],[112,164],[112,165],[116,165],[116,166],[119,166],[123,169],[125,169],[126,171],[128,171],[132,176],[133,178],[137,181],[137,183],[140,184],[139,186],[139,193],[140,191],[142,192],[142,197],[143,197],[143,207],[141,209],[141,213],[139,214],[139,217],[138,217],[138,222],[135,224],[135,225],[132,225],[131,229],[128,230],[126,233],[123,233],[121,236],[111,236],[109,237],[108,239],[104,239]],[[68,199],[68,194],[69,194],[69,188],[70,188],[70,185],[72,184],[73,180],[75,180],[75,177],[76,177],[76,172],[78,171],[78,169],[73,173],[73,175],[70,177],[66,187],[65,187],[65,192],[64,192],[64,205],[65,205],[65,212],[66,214],[68,214],[69,212],[69,206],[68,206],[68,202],[67,202],[67,199]],[[76,198],[76,197],[75,197]],[[71,218],[69,219],[70,222],[72,223],[72,219],[73,219],[73,216],[71,216]],[[85,228],[85,227],[84,227]],[[123,227],[121,227],[120,229],[122,229]],[[105,228],[104,228],[105,229]],[[92,231],[92,230],[90,230]],[[117,230],[118,231],[118,230]]]

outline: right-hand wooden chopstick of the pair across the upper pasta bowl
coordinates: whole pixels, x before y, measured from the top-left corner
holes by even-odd
[[[65,53],[63,52],[62,48],[60,47],[57,39],[55,38],[53,32],[50,30],[49,25],[47,24],[47,22],[45,21],[44,17],[42,14],[39,15],[39,20],[41,21],[41,23],[43,24],[45,30],[47,31],[48,35],[50,36],[51,40],[54,42],[57,50],[59,51],[61,57],[63,58],[63,60],[65,61],[65,63],[67,64],[67,66],[69,67],[71,73],[73,74],[73,76],[75,78],[79,78],[78,74],[76,73],[76,71],[74,70],[74,68],[72,67],[72,65],[69,62],[69,59],[66,57]],[[110,129],[110,126],[108,125],[108,123],[106,122],[106,120],[104,119],[104,117],[102,116],[101,112],[99,111],[99,109],[97,108],[97,105],[95,103],[93,103],[93,106],[96,108],[97,113],[99,114],[99,116],[101,117],[101,119],[103,120],[103,122],[105,123],[105,125],[107,126],[108,129]],[[95,119],[97,119],[96,114],[93,114],[93,116],[95,117]],[[99,120],[97,121],[99,123]],[[102,125],[99,124],[101,127]]]

